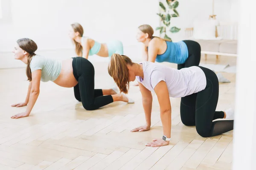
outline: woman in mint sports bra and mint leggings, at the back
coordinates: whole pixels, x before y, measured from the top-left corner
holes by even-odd
[[[69,36],[76,45],[76,55],[88,59],[88,56],[98,55],[110,57],[112,54],[123,54],[123,45],[119,40],[100,43],[89,37],[83,37],[84,29],[79,23],[71,24]]]

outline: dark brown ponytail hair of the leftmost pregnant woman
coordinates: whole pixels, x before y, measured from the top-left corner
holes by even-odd
[[[26,67],[26,76],[28,77],[29,81],[32,81],[32,73],[30,68],[30,62],[32,60],[32,57],[35,56],[35,51],[37,50],[37,45],[33,40],[30,40],[29,38],[22,38],[17,40],[17,44],[21,49],[26,51],[29,54],[28,57],[28,64]]]

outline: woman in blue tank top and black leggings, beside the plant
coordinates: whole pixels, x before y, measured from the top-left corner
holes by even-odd
[[[198,66],[201,59],[201,47],[198,42],[183,40],[171,42],[153,37],[154,30],[149,25],[139,26],[137,41],[143,42],[143,58],[150,62],[172,62],[177,68]]]

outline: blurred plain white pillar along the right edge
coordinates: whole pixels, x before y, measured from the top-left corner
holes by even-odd
[[[239,0],[233,170],[256,170],[256,10]]]

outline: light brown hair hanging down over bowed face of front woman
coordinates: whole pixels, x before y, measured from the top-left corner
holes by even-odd
[[[129,70],[127,65],[133,65],[134,62],[125,55],[112,54],[108,64],[108,74],[114,79],[120,92],[128,93],[129,89]]]

